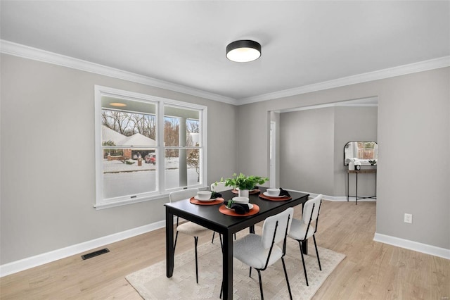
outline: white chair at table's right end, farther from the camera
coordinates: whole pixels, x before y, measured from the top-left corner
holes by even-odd
[[[316,232],[319,223],[319,212],[321,210],[322,195],[316,196],[314,199],[308,200],[303,206],[302,220],[293,220],[290,227],[288,237],[297,240],[300,246],[300,254],[302,255],[302,263],[304,270],[304,278],[308,285],[307,268],[304,265],[304,257],[302,252],[302,243],[307,241],[309,237],[313,237],[314,246],[316,247],[317,261],[319,262],[319,270],[322,270],[321,260],[319,258],[319,251],[317,251]]]

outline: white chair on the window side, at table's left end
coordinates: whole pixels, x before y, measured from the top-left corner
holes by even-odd
[[[183,199],[190,199],[191,197],[195,196],[198,192],[198,189],[182,189],[181,191],[172,192],[169,194],[169,201],[175,202]],[[191,237],[194,238],[194,244],[195,244],[195,279],[198,283],[198,261],[197,261],[197,244],[198,244],[198,236],[203,233],[207,232],[209,229],[200,226],[198,224],[195,224],[193,222],[186,222],[179,224],[179,218],[176,216],[176,235],[175,235],[175,242],[174,242],[174,255],[175,255],[175,248],[176,248],[176,239],[178,239],[179,232],[184,233],[186,235],[191,235]]]

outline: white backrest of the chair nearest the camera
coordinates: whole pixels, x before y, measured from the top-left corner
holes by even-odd
[[[294,208],[290,207],[285,211],[278,213],[277,215],[272,215],[264,220],[262,225],[262,245],[265,249],[269,249],[272,245],[272,240],[274,239],[274,231],[276,228],[276,235],[274,243],[277,244],[285,239],[286,234],[290,230],[290,224],[293,221]],[[276,223],[278,222],[278,227]],[[286,231],[286,227],[288,231]]]

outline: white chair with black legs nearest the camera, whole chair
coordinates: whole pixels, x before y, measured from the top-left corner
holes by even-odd
[[[250,266],[250,276],[252,275],[252,268],[255,268],[258,272],[261,299],[264,299],[261,271],[266,270],[269,265],[276,263],[280,258],[283,262],[289,296],[290,299],[293,299],[284,262],[284,256],[286,254],[286,237],[293,220],[293,214],[294,208],[291,207],[277,215],[272,215],[264,220],[264,224],[262,225],[262,235],[250,233],[234,242],[234,257]],[[281,244],[281,242],[282,245],[280,246],[279,244]]]

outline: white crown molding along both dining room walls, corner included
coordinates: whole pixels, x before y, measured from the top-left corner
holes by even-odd
[[[438,68],[445,68],[450,66],[450,56],[444,56],[441,58],[430,59],[428,61],[421,61],[418,63],[411,63],[409,65],[400,65],[394,68],[387,68],[369,73],[363,73],[359,75],[352,75],[348,77],[342,77],[335,80],[329,80],[326,82],[319,82],[313,85],[305,85],[303,87],[295,87],[293,89],[285,89],[283,91],[262,94],[258,96],[251,96],[242,99],[233,99],[227,96],[221,96],[210,92],[205,92],[200,89],[194,89],[192,87],[186,87],[184,85],[176,85],[172,82],[164,80],[158,80],[152,77],[139,75],[136,73],[119,70],[116,68],[110,68],[105,65],[99,65],[97,63],[91,63],[89,61],[82,61],[81,59],[72,58],[70,56],[63,56],[55,54],[53,52],[32,48],[22,44],[16,44],[3,39],[0,39],[0,52],[13,56],[20,56],[23,58],[29,58],[34,61],[42,61],[44,63],[52,63],[55,65],[62,65],[68,68],[74,68],[77,70],[83,70],[90,73],[96,73],[99,75],[105,75],[108,77],[114,77],[117,79],[128,80],[131,82],[141,83],[151,87],[159,87],[161,89],[167,89],[174,92],[180,92],[189,94],[192,96],[199,96],[201,98],[210,99],[214,101],[224,102],[232,105],[244,105],[252,104],[255,102],[279,99],[288,96],[295,96],[299,94],[306,94],[310,92],[318,92],[324,89],[332,89],[335,87],[344,87],[346,85],[355,85],[357,83],[369,82],[373,80],[380,80],[389,77],[396,77],[400,75],[406,75],[411,73],[418,73],[427,70],[434,70]]]

